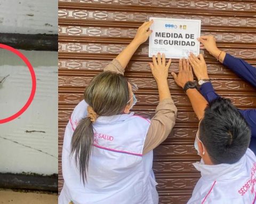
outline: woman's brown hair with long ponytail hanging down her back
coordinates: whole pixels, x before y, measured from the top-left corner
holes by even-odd
[[[97,115],[112,116],[124,111],[129,101],[127,79],[115,72],[102,72],[96,75],[84,91],[84,100]],[[89,117],[79,121],[71,139],[71,154],[75,153],[76,165],[79,168],[83,183],[93,145],[93,125]]]

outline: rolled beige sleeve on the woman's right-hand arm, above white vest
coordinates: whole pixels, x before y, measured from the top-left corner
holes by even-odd
[[[177,107],[171,98],[164,99],[156,107],[156,114],[151,118],[151,124],[145,139],[143,154],[155,149],[170,134],[175,125]]]

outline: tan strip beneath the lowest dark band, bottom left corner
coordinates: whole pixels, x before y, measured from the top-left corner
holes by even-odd
[[[57,204],[57,194],[47,194],[45,192],[17,192],[0,189],[0,204]]]

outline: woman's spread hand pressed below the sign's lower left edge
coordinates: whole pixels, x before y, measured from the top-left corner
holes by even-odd
[[[149,63],[152,74],[156,80],[156,82],[161,82],[166,80],[168,77],[168,70],[171,65],[172,60],[170,59],[168,63],[165,65],[165,54],[162,56],[161,60],[161,54],[157,54],[157,61],[156,61],[156,56],[153,55],[153,64]]]

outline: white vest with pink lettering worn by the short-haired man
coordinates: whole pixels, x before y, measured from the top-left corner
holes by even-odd
[[[235,164],[205,165],[195,163],[202,177],[197,182],[189,204],[252,204],[256,197],[256,157],[247,149]]]

